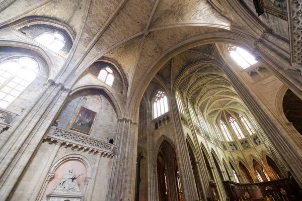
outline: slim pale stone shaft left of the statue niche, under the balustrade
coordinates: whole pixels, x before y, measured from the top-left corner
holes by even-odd
[[[51,152],[51,154],[50,154],[50,156],[49,156],[49,158],[48,158],[48,160],[47,160],[47,162],[46,162],[46,164],[44,166],[44,169],[43,169],[43,171],[42,171],[42,173],[40,175],[40,180],[36,184],[36,186],[34,188],[34,191],[33,191],[32,195],[30,197],[30,200],[36,200],[37,197],[40,195],[39,192],[41,192],[41,188],[43,186],[43,183],[45,182],[45,178],[47,176],[47,173],[48,173],[48,171],[49,171],[49,169],[50,169],[50,167],[51,167],[51,165],[53,163],[53,160],[54,160],[56,154],[58,153],[60,147],[61,147],[61,143],[60,142],[54,144],[52,152]]]

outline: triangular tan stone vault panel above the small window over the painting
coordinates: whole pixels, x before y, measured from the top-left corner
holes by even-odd
[[[105,57],[114,59],[120,64],[124,73],[126,74],[128,82],[132,76],[141,39],[141,36],[138,36],[130,41],[127,41],[126,43],[123,43],[104,55]]]

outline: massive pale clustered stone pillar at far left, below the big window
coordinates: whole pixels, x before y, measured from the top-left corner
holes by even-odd
[[[24,130],[16,143],[11,147],[10,154],[7,154],[3,160],[1,164],[1,166],[3,165],[2,171],[6,170],[6,172],[0,180],[2,186],[0,189],[0,199],[6,200],[8,198],[30,158],[42,141],[49,125],[65,102],[70,90],[63,88],[63,86],[61,83],[55,84],[52,93],[45,100],[45,107],[43,109],[40,108],[36,112],[37,117],[35,118],[39,119],[39,121],[36,120],[36,123],[32,123],[28,120],[28,129]],[[62,88],[63,90],[61,90]],[[34,119],[32,119],[33,122],[35,122]]]

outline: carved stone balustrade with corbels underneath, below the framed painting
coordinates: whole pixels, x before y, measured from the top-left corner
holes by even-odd
[[[89,153],[100,153],[104,157],[112,158],[115,155],[115,145],[113,144],[57,127],[52,127],[44,139],[48,139],[51,142],[60,142],[65,144],[66,147],[71,145],[72,148],[83,149],[83,151],[88,151]]]

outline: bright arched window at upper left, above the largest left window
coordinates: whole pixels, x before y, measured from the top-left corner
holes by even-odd
[[[65,46],[65,38],[57,32],[44,32],[36,38],[36,41],[54,52],[59,52]]]

